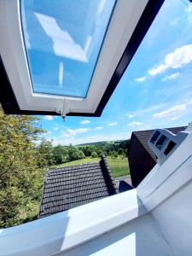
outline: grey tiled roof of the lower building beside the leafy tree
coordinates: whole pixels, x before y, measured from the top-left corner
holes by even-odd
[[[104,157],[97,163],[49,170],[38,218],[79,207],[117,193]]]

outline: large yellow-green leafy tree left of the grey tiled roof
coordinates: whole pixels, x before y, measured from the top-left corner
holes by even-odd
[[[37,163],[38,119],[0,110],[0,226],[20,224],[38,212],[44,172]]]

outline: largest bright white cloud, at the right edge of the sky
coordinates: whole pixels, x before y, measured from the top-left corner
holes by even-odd
[[[151,76],[157,75],[166,71],[168,68],[183,67],[192,61],[192,44],[183,45],[166,55],[162,64],[148,70]]]

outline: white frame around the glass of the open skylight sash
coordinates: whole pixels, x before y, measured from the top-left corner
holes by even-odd
[[[148,0],[117,0],[86,98],[32,91],[20,19],[20,0],[0,2],[0,50],[21,110],[95,113]]]

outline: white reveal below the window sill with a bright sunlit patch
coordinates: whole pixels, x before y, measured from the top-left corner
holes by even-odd
[[[175,254],[153,217],[147,214],[58,255],[171,256]]]

